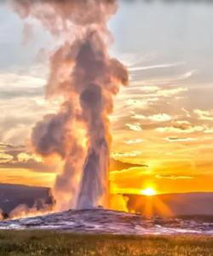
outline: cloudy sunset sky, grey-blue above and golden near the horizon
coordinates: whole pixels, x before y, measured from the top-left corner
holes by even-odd
[[[130,83],[111,117],[112,193],[213,190],[212,11],[203,2],[119,3],[110,52]],[[59,107],[44,96],[59,44],[37,20],[0,5],[0,183],[53,186],[57,166],[32,154],[29,138]]]

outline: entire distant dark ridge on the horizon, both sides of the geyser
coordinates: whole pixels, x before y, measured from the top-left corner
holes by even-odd
[[[213,192],[193,192],[164,195],[126,195],[127,207],[131,212],[146,215],[212,215]],[[42,203],[41,203],[42,202]],[[0,183],[0,209],[9,214],[15,207],[25,204],[27,207],[43,207],[43,203],[52,206],[54,198],[51,189],[19,184]]]

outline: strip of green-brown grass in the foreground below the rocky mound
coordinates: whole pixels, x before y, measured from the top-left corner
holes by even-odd
[[[210,236],[76,235],[50,231],[0,231],[0,255],[212,256]]]

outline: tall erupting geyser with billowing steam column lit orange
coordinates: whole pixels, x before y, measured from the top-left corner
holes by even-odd
[[[123,64],[110,58],[107,21],[116,0],[16,0],[20,17],[41,21],[65,38],[50,58],[47,96],[63,96],[60,111],[44,116],[32,131],[32,145],[43,157],[57,154],[63,170],[55,180],[60,209],[109,204],[109,114],[113,96],[128,83]],[[80,133],[81,131],[81,133]],[[82,131],[87,143],[82,143]]]

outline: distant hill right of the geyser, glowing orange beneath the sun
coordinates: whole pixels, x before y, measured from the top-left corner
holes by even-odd
[[[130,211],[154,215],[213,215],[213,193],[127,195]]]

